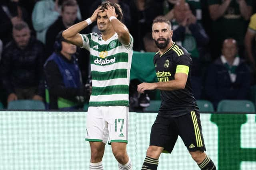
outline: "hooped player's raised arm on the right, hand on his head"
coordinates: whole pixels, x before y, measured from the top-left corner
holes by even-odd
[[[107,9],[105,11],[108,15],[108,18],[109,18],[114,30],[118,34],[118,40],[124,45],[129,45],[129,43],[130,43],[129,31],[128,31],[127,27],[116,18],[117,15],[116,15],[115,8],[112,6],[107,6]]]

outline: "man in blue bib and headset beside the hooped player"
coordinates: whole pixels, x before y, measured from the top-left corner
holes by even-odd
[[[46,76],[46,103],[49,109],[78,109],[88,96],[82,83],[80,68],[75,57],[76,46],[66,42],[62,31],[54,44],[55,52],[44,64]]]

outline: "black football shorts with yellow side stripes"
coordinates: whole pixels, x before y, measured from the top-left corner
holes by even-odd
[[[180,117],[162,117],[158,114],[152,125],[150,146],[163,147],[163,152],[171,153],[178,135],[188,151],[206,150],[198,111],[190,111]]]

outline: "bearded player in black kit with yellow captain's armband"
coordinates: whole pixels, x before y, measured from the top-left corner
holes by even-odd
[[[160,154],[172,152],[178,135],[201,170],[216,170],[204,152],[200,115],[190,82],[192,59],[186,49],[172,41],[170,21],[154,20],[152,37],[159,49],[154,56],[158,82],[141,83],[138,92],[159,89],[162,103],[152,125],[142,170],[156,170]]]

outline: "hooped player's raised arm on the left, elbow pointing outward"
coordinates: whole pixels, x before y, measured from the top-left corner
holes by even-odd
[[[100,7],[98,7],[94,11],[92,16],[90,18],[88,18],[87,20],[76,23],[75,25],[72,25],[68,29],[64,30],[62,33],[62,36],[64,37],[64,39],[66,39],[68,42],[70,42],[74,45],[82,47],[83,41],[82,41],[82,37],[80,36],[79,32],[82,31],[82,29],[84,29],[88,25],[90,25],[92,22],[96,21],[99,12],[102,12],[102,10],[100,10]]]

